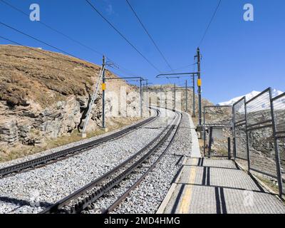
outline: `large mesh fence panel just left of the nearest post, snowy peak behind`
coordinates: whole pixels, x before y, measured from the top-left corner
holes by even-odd
[[[246,110],[250,169],[277,177],[270,88],[249,100]]]

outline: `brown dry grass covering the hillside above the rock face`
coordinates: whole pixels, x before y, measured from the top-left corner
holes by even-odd
[[[60,53],[33,50],[0,45],[0,100],[12,107],[37,103],[47,108],[58,100],[66,100],[68,95],[93,93],[100,66]],[[105,76],[116,77],[108,70]],[[108,83],[110,88],[114,85],[127,84]]]

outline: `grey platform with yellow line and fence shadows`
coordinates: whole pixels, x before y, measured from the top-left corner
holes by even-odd
[[[187,157],[165,214],[284,214],[284,202],[266,191],[232,160]]]

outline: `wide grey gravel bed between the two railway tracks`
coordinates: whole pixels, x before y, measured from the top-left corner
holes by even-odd
[[[171,111],[167,113],[169,118],[162,112],[157,120],[118,140],[106,142],[66,160],[1,179],[0,213],[37,213],[87,185],[154,139],[174,116]],[[83,141],[72,145],[78,143]]]

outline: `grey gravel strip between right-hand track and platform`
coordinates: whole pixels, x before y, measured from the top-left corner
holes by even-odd
[[[191,153],[190,135],[189,116],[183,113],[180,129],[168,152],[113,213],[153,214],[157,211],[182,165],[183,157]]]

